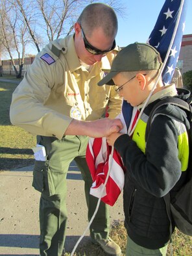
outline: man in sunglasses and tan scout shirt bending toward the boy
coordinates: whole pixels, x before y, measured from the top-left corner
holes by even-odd
[[[115,90],[97,86],[117,53],[116,33],[114,10],[101,3],[88,5],[75,23],[75,34],[49,43],[38,53],[12,97],[11,122],[40,135],[38,144],[46,151],[46,160],[35,162],[32,184],[42,192],[43,256],[62,254],[67,221],[66,175],[73,159],[85,181],[89,220],[95,211],[97,199],[89,193],[92,181],[85,160],[87,136],[106,136],[122,128],[119,120],[99,120],[107,107],[109,118],[121,111],[121,98]],[[90,227],[91,239],[106,253],[121,255],[108,233],[108,209],[101,203]]]

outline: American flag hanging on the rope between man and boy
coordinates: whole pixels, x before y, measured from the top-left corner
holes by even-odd
[[[166,0],[154,29],[147,40],[148,44],[156,47],[160,52],[162,60],[167,60],[166,64],[163,65],[164,69],[162,73],[165,84],[171,82],[171,77],[173,76],[176,62],[178,61],[188,1],[189,0]],[[177,29],[175,29],[176,27]],[[170,45],[171,51],[169,55],[167,55]],[[137,109],[135,107],[132,108],[126,101],[123,101],[121,114],[117,116],[124,125],[123,131],[121,131],[122,133],[130,133],[130,130],[134,127],[134,123],[136,122],[136,117]],[[97,198],[102,197],[101,200],[104,201],[104,203],[114,205],[123,189],[125,170],[121,157],[119,157],[114,149],[114,155],[110,165],[110,175],[106,183],[106,188],[103,189],[104,181],[108,173],[108,159],[110,153],[111,147],[107,145],[106,138],[90,138],[86,152],[86,159],[93,178],[90,194]],[[101,191],[103,191],[102,195]]]

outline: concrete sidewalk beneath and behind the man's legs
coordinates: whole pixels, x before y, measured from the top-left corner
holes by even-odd
[[[40,193],[32,188],[32,168],[0,172],[0,255],[39,255]],[[73,170],[73,171],[72,171]],[[71,252],[88,226],[84,182],[74,163],[67,174],[66,251]],[[110,207],[110,220],[123,220],[122,194]],[[80,244],[89,240],[89,233]]]

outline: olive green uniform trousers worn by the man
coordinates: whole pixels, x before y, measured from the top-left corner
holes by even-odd
[[[64,136],[62,140],[55,137],[38,136],[37,143],[45,146],[47,160],[36,160],[32,186],[42,192],[40,198],[40,255],[60,256],[64,249],[67,209],[67,170],[74,159],[82,179],[88,220],[90,221],[98,199],[90,195],[92,179],[86,164],[86,136]],[[99,210],[90,226],[91,238],[107,238],[109,233],[108,206],[101,202]]]

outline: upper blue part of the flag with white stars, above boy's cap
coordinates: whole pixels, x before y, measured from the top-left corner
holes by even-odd
[[[187,1],[188,0],[184,1],[180,21],[178,23],[178,28],[176,30],[173,45],[171,47],[171,52],[169,54],[169,58],[167,59],[165,69],[162,73],[163,82],[165,84],[171,83],[171,78],[173,76],[176,63],[178,62],[180,47],[182,43],[182,35],[185,28]],[[154,26],[154,29],[150,33],[149,39],[147,40],[148,44],[156,47],[163,61],[165,60],[169,45],[173,37],[181,2],[182,0],[165,1],[156,21],[156,25]]]

